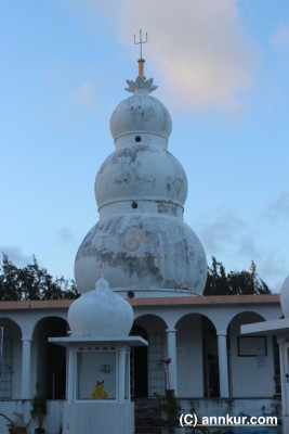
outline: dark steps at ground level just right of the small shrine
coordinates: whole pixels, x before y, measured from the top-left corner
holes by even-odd
[[[135,434],[161,434],[161,409],[156,398],[134,399]]]

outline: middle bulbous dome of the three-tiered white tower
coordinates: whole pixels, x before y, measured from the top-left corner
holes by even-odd
[[[168,201],[184,206],[187,179],[182,165],[167,149],[150,144],[118,148],[101,166],[95,197],[104,204],[123,200]]]

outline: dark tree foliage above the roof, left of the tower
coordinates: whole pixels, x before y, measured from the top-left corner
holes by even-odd
[[[53,279],[45,268],[32,264],[19,268],[2,254],[0,263],[0,301],[62,299],[79,296],[73,280]]]

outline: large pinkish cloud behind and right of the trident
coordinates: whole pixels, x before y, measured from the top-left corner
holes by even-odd
[[[105,11],[131,50],[133,34],[139,36],[139,28],[148,33],[144,58],[162,75],[161,88],[170,103],[198,111],[240,107],[239,95],[252,85],[259,51],[246,39],[236,0],[86,0],[83,4],[95,20]]]

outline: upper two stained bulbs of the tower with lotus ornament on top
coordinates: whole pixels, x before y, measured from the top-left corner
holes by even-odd
[[[129,81],[129,90],[133,89],[135,94],[118,104],[111,115],[116,151],[96,176],[95,197],[100,212],[113,202],[136,199],[184,206],[186,175],[167,150],[171,116],[165,105],[149,94],[153,80],[147,81],[150,86],[140,78]]]

